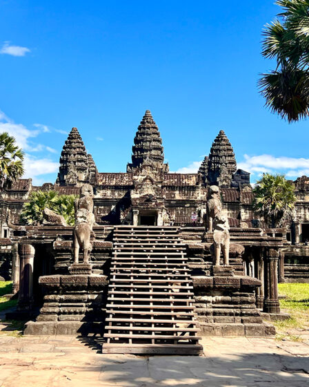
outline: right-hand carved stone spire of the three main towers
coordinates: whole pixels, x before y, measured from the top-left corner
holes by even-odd
[[[212,142],[208,160],[208,182],[210,185],[230,187],[232,174],[237,170],[235,154],[224,131]]]

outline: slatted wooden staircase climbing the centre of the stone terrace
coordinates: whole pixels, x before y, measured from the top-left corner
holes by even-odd
[[[177,227],[114,227],[103,353],[199,355],[195,299]]]

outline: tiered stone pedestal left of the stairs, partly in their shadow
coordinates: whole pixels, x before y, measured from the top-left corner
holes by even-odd
[[[108,289],[106,276],[41,276],[45,288],[37,321],[28,321],[24,334],[102,334]]]

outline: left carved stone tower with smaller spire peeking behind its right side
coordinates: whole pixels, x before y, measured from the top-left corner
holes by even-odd
[[[91,156],[88,158],[79,131],[72,128],[61,152],[57,185],[79,187],[90,181],[94,167],[94,161]]]

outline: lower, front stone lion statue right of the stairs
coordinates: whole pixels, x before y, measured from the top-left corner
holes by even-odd
[[[229,265],[230,260],[230,226],[228,225],[228,217],[222,214],[215,217],[214,220],[214,245],[215,254],[213,264],[220,265],[221,249],[223,252],[223,265]]]

